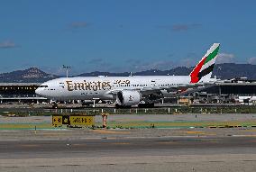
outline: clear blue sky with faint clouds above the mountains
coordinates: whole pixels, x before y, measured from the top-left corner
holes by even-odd
[[[73,75],[193,66],[214,42],[219,63],[256,64],[252,0],[3,0],[0,72]]]

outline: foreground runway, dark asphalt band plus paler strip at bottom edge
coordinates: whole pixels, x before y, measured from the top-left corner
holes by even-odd
[[[1,171],[255,171],[256,137],[1,140]]]

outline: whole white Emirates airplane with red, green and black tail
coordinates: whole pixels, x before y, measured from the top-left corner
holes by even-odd
[[[213,84],[211,78],[220,43],[214,43],[189,76],[60,77],[39,86],[35,93],[54,101],[113,100],[116,107],[153,106],[165,94]]]

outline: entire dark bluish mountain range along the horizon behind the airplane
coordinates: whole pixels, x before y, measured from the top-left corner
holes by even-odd
[[[171,68],[169,70],[158,70],[151,69],[142,72],[135,72],[133,76],[187,76],[193,68],[178,67]],[[110,72],[89,72],[83,73],[78,76],[73,77],[96,77],[96,76],[108,76],[108,77],[122,77],[130,76],[131,73],[110,73]],[[224,63],[216,64],[213,76],[220,79],[231,79],[235,77],[248,77],[248,79],[256,80],[256,65],[251,64],[234,64],[234,63]],[[57,78],[57,75],[47,74],[41,71],[39,68],[28,68],[25,70],[16,70],[10,73],[0,74],[0,82],[31,82],[31,83],[41,83],[48,81],[53,78]]]

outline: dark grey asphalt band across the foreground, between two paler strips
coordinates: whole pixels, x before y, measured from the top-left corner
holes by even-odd
[[[79,158],[136,155],[256,153],[254,137],[163,137],[82,140],[1,140],[0,158]]]

